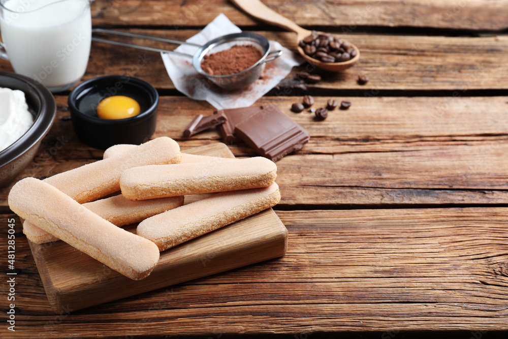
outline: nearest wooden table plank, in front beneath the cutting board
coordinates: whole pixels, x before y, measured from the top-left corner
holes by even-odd
[[[290,232],[282,258],[57,317],[17,224],[15,334],[507,330],[506,213],[508,208],[278,211]],[[9,217],[0,217],[3,233]]]

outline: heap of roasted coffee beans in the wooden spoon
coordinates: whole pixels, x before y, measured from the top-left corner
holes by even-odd
[[[356,49],[347,41],[331,33],[317,33],[315,30],[298,45],[308,56],[324,63],[343,63],[357,55]]]

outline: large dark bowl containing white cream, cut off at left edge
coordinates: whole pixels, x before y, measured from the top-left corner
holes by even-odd
[[[26,103],[35,115],[34,125],[12,145],[0,151],[0,187],[4,187],[34,159],[42,138],[53,124],[56,104],[46,87],[36,85],[23,75],[0,72],[0,87],[23,91]]]

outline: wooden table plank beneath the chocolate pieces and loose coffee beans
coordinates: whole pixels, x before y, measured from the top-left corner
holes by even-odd
[[[331,97],[316,97],[316,107]],[[290,111],[301,97],[264,98],[277,104],[311,135],[300,151],[277,162],[283,205],[505,204],[507,201],[508,97],[340,98],[353,105],[315,121]],[[48,177],[102,158],[72,129],[66,97],[57,96],[58,116],[38,155],[18,177]],[[184,139],[181,133],[204,102],[162,97],[154,137],[176,139],[182,149],[220,142],[216,130]],[[65,141],[57,149],[55,142]],[[245,144],[236,156],[254,156]],[[316,164],[309,167],[310,163]],[[10,187],[0,189],[7,209]]]

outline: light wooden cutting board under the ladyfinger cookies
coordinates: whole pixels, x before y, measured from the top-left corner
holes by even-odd
[[[185,150],[234,158],[225,144]],[[185,197],[185,203],[197,200]],[[135,232],[136,225],[125,229]],[[161,253],[148,278],[134,281],[63,241],[29,241],[49,303],[56,313],[80,310],[284,255],[288,230],[269,208]]]

